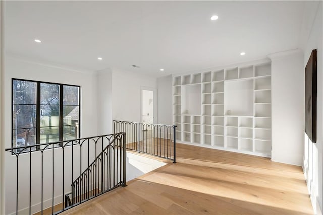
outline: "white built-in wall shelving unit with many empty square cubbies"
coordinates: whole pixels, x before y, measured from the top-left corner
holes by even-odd
[[[178,142],[270,157],[271,64],[173,76]]]

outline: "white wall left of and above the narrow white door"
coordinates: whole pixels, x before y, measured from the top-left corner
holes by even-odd
[[[141,86],[157,88],[157,79],[113,69],[112,80],[113,119],[140,122]]]

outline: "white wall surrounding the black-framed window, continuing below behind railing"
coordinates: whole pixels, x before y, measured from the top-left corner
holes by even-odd
[[[4,124],[7,125],[4,128],[4,147],[11,148],[11,79],[12,78],[20,78],[20,79],[28,79],[28,80],[39,80],[39,81],[47,81],[47,82],[56,82],[56,83],[64,83],[64,84],[73,84],[81,86],[81,137],[89,137],[97,135],[97,111],[96,111],[96,77],[92,73],[81,73],[77,71],[71,71],[67,69],[52,67],[43,64],[37,64],[32,62],[27,62],[23,60],[18,60],[12,57],[6,57],[5,62],[5,73],[4,73],[4,114],[5,117],[2,119]],[[66,154],[69,153],[69,149],[66,150]],[[44,168],[44,201],[45,203],[51,203],[51,201],[47,201],[51,198],[51,182],[52,182],[52,169],[51,169],[51,156],[52,150],[47,150],[44,152],[44,162],[47,163],[46,168]],[[82,154],[85,151],[82,151]],[[33,192],[33,200],[32,205],[39,208],[39,199],[35,196],[39,197],[40,194],[40,153],[34,152],[32,158],[32,170],[35,178],[32,180],[32,192]],[[75,152],[75,157],[78,157],[79,154]],[[27,155],[21,155],[19,162],[19,170],[21,171],[19,175],[19,189],[25,190],[26,193],[23,195],[20,193],[19,196],[19,209],[25,208],[28,206],[29,202],[29,158]],[[69,163],[71,160],[65,160],[65,166],[71,167]],[[56,169],[59,170],[62,165],[62,153],[56,149],[55,154],[55,164]],[[84,162],[85,163],[85,162]],[[84,166],[84,163],[82,167]],[[75,164],[74,164],[75,165]],[[79,166],[79,164],[77,164]],[[16,158],[12,156],[9,152],[5,154],[5,183],[6,183],[6,214],[12,213],[15,211],[15,199],[16,199]],[[84,168],[84,167],[83,167]],[[74,169],[77,171],[77,168]],[[78,169],[79,171],[79,169]],[[62,173],[62,171],[58,171]],[[69,174],[71,169],[66,168],[65,173]],[[38,177],[36,177],[38,176]],[[75,174],[76,176],[76,174]],[[61,175],[57,174],[56,180],[58,181],[58,185],[56,186],[56,195],[61,193],[60,187],[60,178]],[[24,183],[28,184],[28,186],[24,186]],[[70,183],[65,181],[66,190],[70,189]],[[27,194],[27,195],[26,195]],[[55,195],[55,196],[56,196]],[[57,201],[61,201],[62,196],[59,196]]]

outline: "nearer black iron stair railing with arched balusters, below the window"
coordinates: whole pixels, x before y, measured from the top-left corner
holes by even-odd
[[[25,205],[19,205],[20,197],[29,197],[29,214],[38,212],[32,208],[33,198],[33,200],[40,199],[41,213],[49,206],[52,214],[58,214],[119,186],[126,186],[125,133],[36,144],[10,148],[6,151],[16,157],[16,214],[20,212],[19,208],[25,207]],[[40,158],[39,153],[41,153],[41,159],[37,160]],[[21,156],[23,156],[23,160],[19,162]],[[26,160],[25,156],[29,156],[29,164],[23,162]],[[48,159],[48,157],[50,158]],[[48,164],[48,160],[51,161],[51,164]],[[90,160],[93,161],[90,163]],[[28,166],[29,189],[21,189],[22,185],[25,185],[21,183],[26,182],[26,173],[21,172],[21,167],[28,169]],[[49,167],[52,168],[52,177],[44,175],[44,170]],[[65,172],[66,168],[71,170],[69,175]],[[75,174],[75,171],[79,171],[80,174]],[[38,179],[37,175],[41,175],[41,179]],[[58,180],[60,175],[62,178]],[[35,185],[32,185],[33,180],[40,182],[41,193],[33,191],[35,189]],[[46,183],[44,180],[47,180]],[[52,187],[48,187],[48,180],[51,180]],[[71,185],[71,188],[70,186],[64,187],[66,183]],[[59,192],[59,190],[61,191]],[[44,205],[44,194],[48,196],[50,193],[52,194],[51,205],[48,203]],[[57,202],[55,196],[60,195],[62,195],[62,202]],[[60,203],[62,204],[61,209],[55,211],[54,206]],[[25,210],[21,212],[26,213]]]

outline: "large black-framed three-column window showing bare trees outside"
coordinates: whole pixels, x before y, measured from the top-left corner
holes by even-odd
[[[80,86],[12,79],[12,147],[80,137]]]

